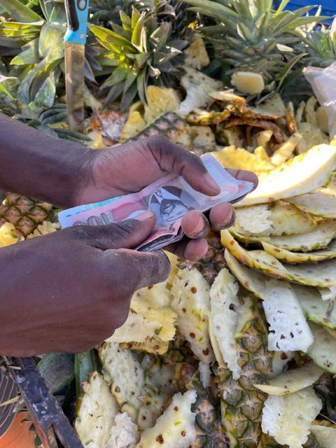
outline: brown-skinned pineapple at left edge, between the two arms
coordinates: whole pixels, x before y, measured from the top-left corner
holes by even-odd
[[[8,193],[0,205],[0,226],[10,223],[14,226],[11,233],[17,237],[27,237],[45,220],[54,218],[54,214],[55,211],[49,203]]]

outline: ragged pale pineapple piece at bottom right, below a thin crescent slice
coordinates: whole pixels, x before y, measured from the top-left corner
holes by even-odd
[[[306,443],[311,422],[320,413],[322,402],[312,386],[289,396],[269,396],[262,410],[262,430],[276,442],[301,448]]]

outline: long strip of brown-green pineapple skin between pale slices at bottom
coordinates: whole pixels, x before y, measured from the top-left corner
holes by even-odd
[[[257,302],[250,301],[249,311],[235,337],[240,347],[240,379],[233,380],[226,365],[218,367],[216,377],[222,424],[230,439],[230,448],[257,448],[262,437],[262,407],[267,394],[254,388],[254,384],[267,382],[271,353],[267,349],[267,327]]]

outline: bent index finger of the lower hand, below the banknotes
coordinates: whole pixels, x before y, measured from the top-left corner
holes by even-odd
[[[118,265],[122,267],[120,274],[118,271],[120,291],[123,289],[135,291],[144,286],[161,283],[169,276],[169,259],[162,250],[155,252],[138,252],[129,249],[107,250],[104,252],[104,257],[111,261],[111,272],[116,269],[116,257],[118,258]]]

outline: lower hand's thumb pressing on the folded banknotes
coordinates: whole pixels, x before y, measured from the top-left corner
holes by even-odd
[[[97,249],[132,249],[150,236],[155,222],[155,214],[146,211],[135,219],[108,225],[78,225],[66,230]]]

